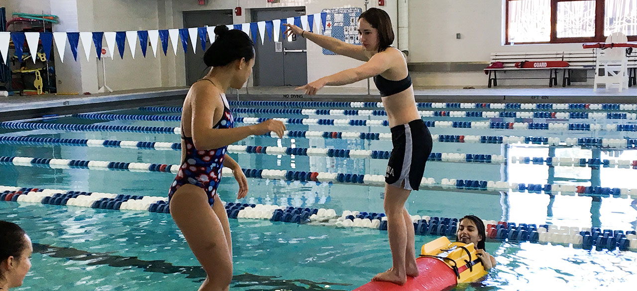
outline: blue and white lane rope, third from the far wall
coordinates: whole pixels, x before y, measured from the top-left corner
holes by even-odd
[[[89,120],[147,120],[147,121],[174,121],[178,122],[182,117],[178,115],[139,115],[139,114],[101,114],[82,113],[73,115],[77,118]],[[387,127],[387,120],[366,120],[366,119],[318,119],[318,118],[259,118],[259,117],[236,117],[234,122],[244,124],[258,124],[266,120],[279,120],[284,124],[302,125],[352,125]],[[560,122],[452,122],[452,121],[428,121],[427,127],[442,128],[471,128],[471,129],[532,129],[545,131],[637,131],[637,124],[573,124]],[[430,126],[431,125],[431,126]]]

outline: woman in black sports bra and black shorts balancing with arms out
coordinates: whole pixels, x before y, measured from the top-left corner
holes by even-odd
[[[412,190],[418,190],[420,186],[425,163],[431,153],[431,134],[420,119],[406,59],[403,53],[390,46],[394,42],[394,32],[389,15],[378,8],[370,8],[361,14],[358,24],[362,46],[303,31],[290,24],[287,24],[285,33],[302,36],[339,55],[365,62],[359,67],[308,83],[298,90],[315,95],[326,85],[347,85],[371,77],[380,90],[394,144],[385,174],[384,201],[393,266],[372,280],[403,285],[407,276],[419,274],[412,218],[404,208],[404,202]]]

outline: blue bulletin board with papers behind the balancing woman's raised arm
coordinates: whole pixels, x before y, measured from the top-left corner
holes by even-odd
[[[361,45],[358,36],[358,18],[361,16],[362,8],[331,8],[324,9],[327,13],[324,36],[331,36],[352,45]],[[324,55],[336,55],[330,50],[323,49]]]

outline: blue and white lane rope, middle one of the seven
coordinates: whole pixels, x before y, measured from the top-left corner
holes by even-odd
[[[427,122],[426,122],[427,123]],[[433,127],[435,124],[431,122]],[[141,132],[154,134],[181,134],[180,127],[150,127],[127,125],[97,125],[97,124],[42,124],[32,122],[0,122],[4,129],[49,129],[59,131],[107,131],[107,132]],[[269,133],[262,136],[276,137]],[[392,135],[387,132],[338,132],[338,131],[285,131],[289,138],[323,138],[323,139],[364,139],[391,140]],[[532,143],[535,145],[587,146],[598,148],[636,148],[637,139],[621,138],[566,138],[563,141],[557,137],[543,136],[476,136],[459,134],[433,134],[433,141],[440,143]]]

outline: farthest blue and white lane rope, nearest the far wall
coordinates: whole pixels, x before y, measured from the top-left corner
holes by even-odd
[[[382,102],[339,102],[339,101],[229,101],[230,106],[271,106],[285,108],[384,108]],[[418,108],[489,108],[489,109],[523,109],[523,110],[611,110],[634,111],[637,104],[617,103],[416,103]],[[150,107],[154,108],[154,107]],[[176,108],[176,107],[175,107]],[[176,109],[173,109],[176,110]],[[152,111],[152,110],[150,110]],[[179,112],[179,111],[161,111]]]

